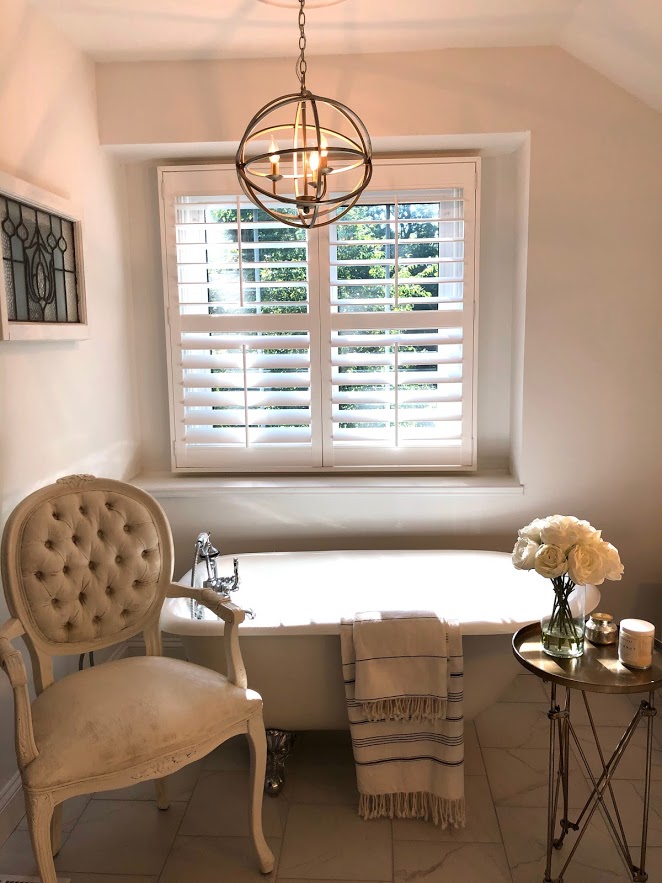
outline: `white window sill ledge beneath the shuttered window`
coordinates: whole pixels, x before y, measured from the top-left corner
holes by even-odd
[[[504,472],[473,475],[278,475],[236,478],[219,475],[178,476],[144,472],[131,484],[160,498],[212,496],[219,493],[269,494],[523,494],[524,485]]]

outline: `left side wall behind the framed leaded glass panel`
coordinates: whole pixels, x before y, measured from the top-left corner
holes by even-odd
[[[0,169],[82,207],[90,331],[77,343],[0,342],[1,530],[20,499],[61,475],[134,473],[138,433],[122,172],[99,147],[93,65],[26,0],[0,16],[0,120]],[[0,600],[0,621],[6,615]],[[0,808],[16,771],[11,702],[2,674]]]

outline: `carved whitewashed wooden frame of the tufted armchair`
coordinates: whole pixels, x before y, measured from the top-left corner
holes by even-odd
[[[119,635],[106,635],[97,640],[76,641],[64,646],[55,646],[52,641],[44,640],[31,616],[25,593],[21,590],[18,550],[20,549],[22,527],[30,513],[53,494],[62,495],[63,486],[65,492],[68,490],[71,493],[96,490],[121,493],[142,504],[149,511],[157,529],[162,551],[162,568],[159,584],[149,610],[138,623],[134,623],[126,632]],[[172,535],[165,513],[152,497],[123,482],[95,479],[93,476],[69,476],[67,479],[61,479],[56,485],[50,485],[35,492],[16,507],[5,527],[2,543],[2,576],[12,617],[0,625],[0,664],[4,667],[14,692],[16,756],[23,777],[30,836],[43,883],[56,883],[57,880],[53,856],[57,855],[61,844],[61,805],[63,801],[80,794],[125,788],[139,781],[154,779],[157,805],[159,809],[166,810],[169,806],[166,789],[167,776],[204,757],[227,739],[242,733],[247,736],[250,747],[250,836],[262,873],[269,873],[273,869],[274,857],[262,831],[266,737],[261,703],[256,704],[257,710],[251,712],[245,720],[234,722],[221,732],[215,732],[213,737],[187,745],[174,752],[151,757],[142,763],[134,764],[129,769],[123,769],[120,772],[100,770],[98,775],[80,781],[67,782],[65,785],[55,788],[42,788],[38,786],[38,783],[32,782],[28,785],[26,782],[26,773],[39,756],[39,745],[35,741],[28,676],[23,657],[12,644],[16,638],[23,638],[30,652],[36,693],[39,696],[54,683],[52,665],[54,655],[79,654],[98,650],[101,647],[112,646],[127,640],[142,631],[147,655],[161,656],[159,615],[164,598],[192,598],[223,619],[227,680],[230,684],[243,690],[247,688],[246,670],[241,657],[238,635],[238,626],[244,620],[244,612],[211,589],[184,588],[173,584],[172,549]],[[69,677],[75,676],[74,674]],[[221,696],[220,701],[222,698]]]

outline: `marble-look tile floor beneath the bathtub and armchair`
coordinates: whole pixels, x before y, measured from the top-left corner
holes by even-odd
[[[595,718],[607,743],[632,714],[628,697],[597,697]],[[491,708],[466,727],[467,825],[433,825],[356,815],[348,735],[300,734],[276,799],[265,798],[264,830],[276,856],[273,874],[257,870],[247,837],[248,755],[232,740],[170,780],[171,808],[159,812],[151,783],[78,798],[65,807],[56,865],[72,883],[540,883],[544,876],[547,697],[533,675],[519,675]],[[589,727],[578,717],[582,744]],[[658,736],[660,734],[658,733]],[[640,840],[643,731],[614,782],[628,840]],[[594,750],[589,751],[591,760]],[[572,760],[571,806],[588,785]],[[662,742],[655,743],[649,880],[662,883]],[[558,860],[572,846],[555,854]],[[637,859],[635,854],[635,860]],[[23,820],[0,848],[0,874],[35,875]],[[599,813],[565,874],[565,883],[625,881]]]

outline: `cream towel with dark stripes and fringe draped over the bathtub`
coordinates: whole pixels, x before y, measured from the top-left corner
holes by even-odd
[[[415,637],[419,626],[424,636],[420,648]],[[394,636],[394,629],[401,633],[400,637]],[[435,629],[435,652],[421,653],[430,650],[430,633]],[[379,636],[380,631],[385,640]],[[360,794],[359,815],[364,819],[431,819],[443,828],[449,824],[463,827],[463,671],[459,625],[443,623],[425,612],[363,613],[342,622],[340,641]],[[441,658],[430,660],[430,656]],[[402,670],[391,680],[395,663],[390,660],[396,657]],[[430,661],[439,665],[449,685],[446,689],[440,688],[438,673],[430,674]],[[375,695],[375,689],[379,687],[382,662],[380,696]],[[404,674],[407,671],[414,677],[408,684]],[[366,697],[365,704],[358,698],[359,687]],[[431,707],[406,701],[421,697],[437,699],[439,703]],[[392,704],[394,699],[404,701]],[[446,713],[442,717],[444,706]],[[390,717],[391,712],[395,717]]]

